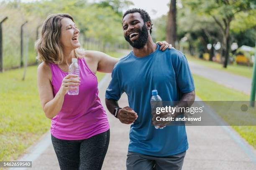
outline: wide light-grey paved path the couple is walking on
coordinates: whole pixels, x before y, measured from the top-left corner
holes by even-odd
[[[190,63],[190,67],[192,72],[196,74],[197,72],[205,72],[202,71],[205,69],[204,67],[194,63]],[[202,73],[200,74],[202,75]],[[105,89],[109,81],[110,75],[108,74],[100,83],[99,88],[100,99],[104,107]],[[121,107],[128,105],[127,96],[124,94],[119,102]],[[109,112],[108,120],[110,122],[110,145],[102,170],[125,170],[130,126],[120,123]],[[187,126],[187,136],[189,150],[187,150],[183,170],[256,169],[256,150],[230,127]],[[46,133],[39,140],[39,143],[29,148],[27,154],[20,160],[33,160],[33,168],[28,168],[28,170],[59,170],[50,133]],[[21,170],[20,168],[16,169]]]

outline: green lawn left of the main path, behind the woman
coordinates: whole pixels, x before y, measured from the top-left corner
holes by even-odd
[[[123,54],[109,52],[113,57]],[[0,73],[0,161],[15,160],[47,130],[50,120],[44,115],[36,84],[37,66]],[[97,73],[98,81],[104,73]]]

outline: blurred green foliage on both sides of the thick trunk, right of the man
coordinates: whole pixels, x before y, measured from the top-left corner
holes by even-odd
[[[230,21],[230,44],[238,46],[255,45],[256,1],[250,0],[182,0],[182,7],[177,9],[177,40],[179,46],[189,50],[192,55],[199,55],[207,50],[207,44],[221,42],[224,47],[223,29]],[[215,19],[219,21],[216,23]],[[166,16],[154,20],[154,39],[165,40]],[[225,22],[224,22],[225,20]],[[227,23],[226,23],[227,24]],[[187,42],[181,42],[182,37]],[[220,49],[222,50],[222,49]],[[218,51],[221,53],[221,51]]]

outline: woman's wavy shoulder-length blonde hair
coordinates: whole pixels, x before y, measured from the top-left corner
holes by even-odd
[[[48,15],[42,25],[40,38],[35,43],[35,49],[38,52],[36,57],[39,61],[60,64],[64,60],[63,49],[60,42],[61,20],[63,18],[74,19],[69,14],[51,14]],[[81,49],[74,49],[75,57],[82,57]]]

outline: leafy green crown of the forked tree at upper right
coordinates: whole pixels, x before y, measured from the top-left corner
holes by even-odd
[[[200,18],[213,19],[223,36],[228,36],[229,30],[241,32],[256,26],[256,1],[184,0],[183,2]]]

